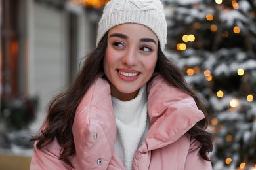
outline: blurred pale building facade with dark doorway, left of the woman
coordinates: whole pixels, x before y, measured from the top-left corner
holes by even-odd
[[[35,125],[95,48],[100,10],[66,0],[2,0],[1,100],[37,96]],[[34,129],[37,131],[37,127]]]

